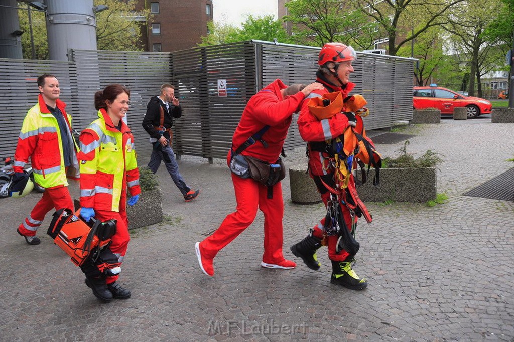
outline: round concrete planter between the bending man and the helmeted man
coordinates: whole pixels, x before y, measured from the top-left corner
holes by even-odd
[[[316,183],[306,171],[307,165],[305,164],[289,167],[289,184],[293,203],[311,204],[321,202]]]

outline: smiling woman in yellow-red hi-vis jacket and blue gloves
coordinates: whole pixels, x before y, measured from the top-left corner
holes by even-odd
[[[89,260],[81,266],[87,286],[104,302],[131,296],[130,291],[116,282],[129,240],[126,189],[131,194],[129,205],[137,202],[141,192],[134,137],[122,120],[128,110],[129,96],[130,90],[119,84],[97,91],[98,119],[80,135],[80,215],[87,222],[92,216],[102,222],[117,221],[109,248],[96,262]]]

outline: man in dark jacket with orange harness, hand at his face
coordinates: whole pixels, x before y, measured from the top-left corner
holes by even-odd
[[[155,174],[160,166],[161,160],[170,173],[171,179],[175,182],[186,202],[191,201],[200,193],[186,184],[180,175],[175,154],[171,148],[172,133],[171,126],[173,118],[182,116],[182,108],[175,97],[175,87],[171,84],[163,84],[159,96],[154,96],[146,106],[146,115],[143,119],[143,128],[150,135],[150,142],[153,145],[152,156],[148,168]]]

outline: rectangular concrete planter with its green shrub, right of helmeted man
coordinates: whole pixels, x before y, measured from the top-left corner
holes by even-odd
[[[357,185],[359,197],[373,202],[427,202],[437,197],[438,154],[427,150],[417,158],[407,153],[406,141],[397,158],[384,158],[380,169],[380,184],[373,185],[375,170],[371,169],[368,182]],[[360,173],[357,173],[360,178]]]

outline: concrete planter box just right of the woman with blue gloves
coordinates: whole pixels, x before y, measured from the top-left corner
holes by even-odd
[[[127,204],[128,229],[162,222],[162,194],[160,189],[139,194],[136,204]]]

